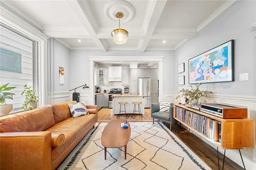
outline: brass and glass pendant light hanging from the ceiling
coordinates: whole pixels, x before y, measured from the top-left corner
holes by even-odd
[[[119,28],[111,32],[112,38],[116,44],[124,44],[128,39],[128,31],[120,28],[120,19],[123,17],[122,12],[116,12],[115,16],[119,21]]]

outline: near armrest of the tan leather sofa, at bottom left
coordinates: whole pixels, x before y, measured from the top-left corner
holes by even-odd
[[[51,169],[51,132],[0,133],[0,169]]]

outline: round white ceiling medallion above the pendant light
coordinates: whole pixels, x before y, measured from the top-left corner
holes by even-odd
[[[104,6],[103,10],[105,16],[114,22],[119,19],[116,17],[117,12],[121,12],[123,14],[123,17],[121,19],[122,23],[128,22],[133,19],[135,14],[133,6],[126,1],[111,1]]]

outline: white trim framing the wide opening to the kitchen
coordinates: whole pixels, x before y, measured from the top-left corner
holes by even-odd
[[[94,105],[94,63],[101,61],[157,61],[159,64],[159,101],[163,100],[163,56],[89,56],[90,57],[90,98],[91,105]]]

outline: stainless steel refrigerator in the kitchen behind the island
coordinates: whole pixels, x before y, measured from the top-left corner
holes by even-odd
[[[139,78],[138,79],[138,95],[144,95],[144,107],[151,107],[151,81],[150,78]]]

